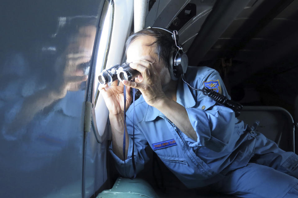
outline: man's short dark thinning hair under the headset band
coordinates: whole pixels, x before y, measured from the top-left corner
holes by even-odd
[[[164,61],[166,63],[166,66],[168,67],[170,58],[169,56],[177,48],[172,38],[172,34],[165,30],[157,28],[142,29],[128,37],[125,43],[125,54],[129,45],[141,36],[152,36],[156,38],[154,42],[148,44],[147,46],[156,44],[156,54],[159,61]]]

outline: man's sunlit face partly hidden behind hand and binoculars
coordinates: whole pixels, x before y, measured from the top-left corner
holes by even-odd
[[[159,72],[161,78],[161,85],[164,87],[170,80],[169,70],[163,61],[159,61],[156,54],[156,44],[147,46],[153,43],[156,39],[152,36],[141,36],[133,41],[127,49],[126,62],[133,62],[135,60],[147,60],[152,63],[152,66]],[[138,75],[136,81],[142,81],[142,75]]]

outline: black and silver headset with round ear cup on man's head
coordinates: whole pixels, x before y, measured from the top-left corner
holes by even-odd
[[[151,27],[148,27],[149,29]],[[169,56],[169,72],[172,80],[178,80],[180,75],[185,74],[188,66],[187,55],[183,52],[183,49],[179,42],[179,36],[177,30],[170,31],[165,28],[152,27],[155,29],[161,29],[172,34],[172,38],[175,41],[177,49],[171,52]]]

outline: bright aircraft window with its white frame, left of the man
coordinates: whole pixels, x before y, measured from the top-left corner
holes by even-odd
[[[100,94],[98,76],[103,69],[117,63],[122,63],[124,44],[129,36],[133,20],[133,1],[111,0],[102,25],[94,82],[94,108],[92,127],[96,134],[97,142],[106,140],[109,128],[109,111]],[[123,14],[125,13],[125,15]]]

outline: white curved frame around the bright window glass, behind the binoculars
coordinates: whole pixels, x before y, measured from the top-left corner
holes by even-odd
[[[131,26],[133,22],[133,1],[131,0],[111,0],[112,10],[112,26],[110,30],[110,39],[108,42],[108,53],[106,51],[104,61],[102,62],[102,69],[109,68],[112,65],[120,63],[124,54],[124,45],[126,38],[131,32]],[[125,15],[124,15],[124,14]],[[100,64],[100,62],[99,62]],[[96,67],[98,67],[98,63]],[[97,69],[97,68],[96,68]],[[98,73],[99,74],[99,73]],[[97,73],[95,73],[97,75]],[[98,76],[94,78],[94,84],[97,86],[96,90],[93,90],[93,99],[96,101],[93,105],[92,111],[92,127],[98,143],[103,143],[108,137],[109,131],[109,111],[100,94]],[[96,104],[96,105],[95,105]]]

